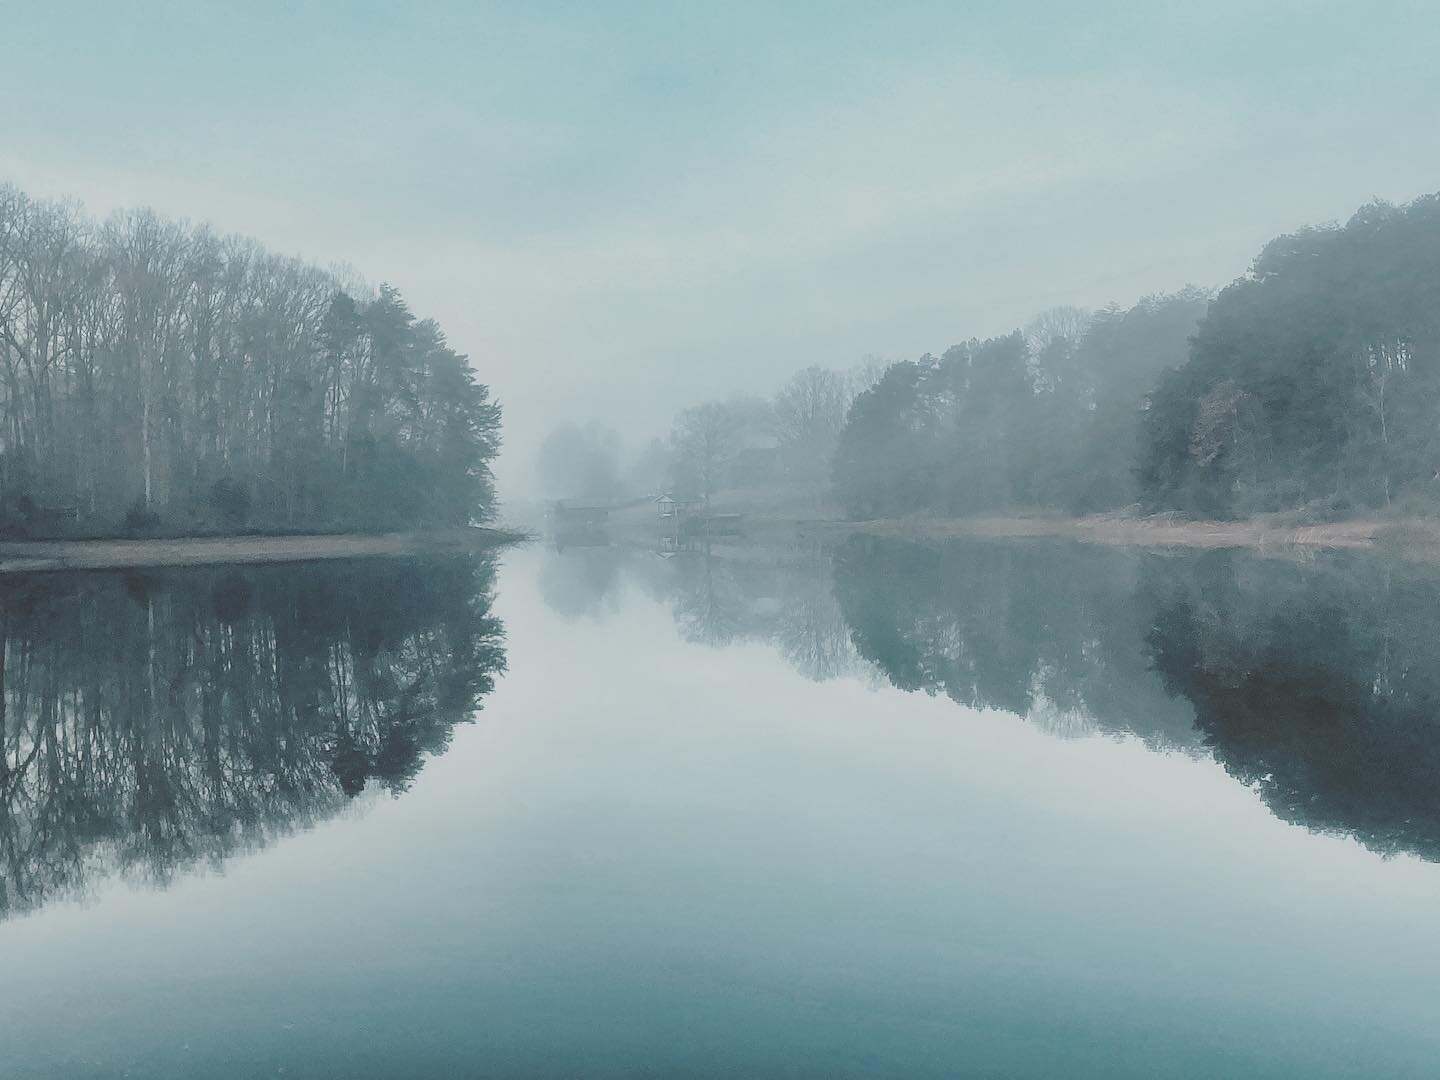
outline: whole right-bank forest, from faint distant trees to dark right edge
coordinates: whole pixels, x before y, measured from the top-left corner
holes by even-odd
[[[796,492],[851,518],[1051,511],[1299,521],[1440,500],[1440,196],[1264,246],[1214,294],[1053,308],[939,356],[809,367],[683,410],[628,461],[557,431],[552,495]],[[762,495],[763,497],[763,495]]]

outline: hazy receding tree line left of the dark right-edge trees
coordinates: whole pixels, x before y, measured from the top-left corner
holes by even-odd
[[[939,357],[806,367],[770,399],[681,410],[628,465],[605,425],[566,425],[541,448],[541,482],[600,498],[783,492],[852,517],[1133,504],[1149,389],[1185,361],[1210,301],[1187,288],[1130,308],[1061,307]]]

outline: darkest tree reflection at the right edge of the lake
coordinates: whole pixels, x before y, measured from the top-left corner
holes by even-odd
[[[1440,861],[1440,579],[1372,557],[1189,560],[1149,645],[1215,759],[1280,818]]]

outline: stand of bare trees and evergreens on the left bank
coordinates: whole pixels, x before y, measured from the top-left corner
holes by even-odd
[[[500,409],[389,285],[0,186],[0,528],[485,520]]]

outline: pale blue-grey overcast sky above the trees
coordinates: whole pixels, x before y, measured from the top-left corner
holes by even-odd
[[[632,442],[1440,189],[1418,3],[0,0],[0,179],[389,281]]]

